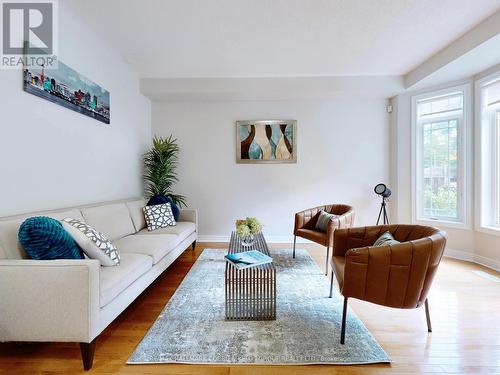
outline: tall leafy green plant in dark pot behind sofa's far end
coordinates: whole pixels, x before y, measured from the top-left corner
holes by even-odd
[[[175,220],[179,218],[179,207],[186,206],[186,197],[175,194],[173,186],[177,179],[179,146],[172,135],[168,138],[154,137],[153,146],[144,154],[144,181],[148,206],[169,202]]]

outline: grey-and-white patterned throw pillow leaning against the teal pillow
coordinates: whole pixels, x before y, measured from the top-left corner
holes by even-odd
[[[65,218],[61,223],[89,258],[98,259],[106,267],[120,264],[118,250],[104,234],[80,220]]]

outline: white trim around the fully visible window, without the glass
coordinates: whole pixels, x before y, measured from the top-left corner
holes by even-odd
[[[430,98],[433,96],[443,96],[453,92],[461,91],[463,93],[463,122],[459,122],[459,129],[461,130],[459,136],[459,178],[462,181],[463,191],[458,192],[459,204],[461,206],[462,218],[461,221],[447,221],[442,219],[423,219],[417,217],[417,102],[422,99]],[[459,86],[448,87],[443,90],[429,91],[423,94],[412,96],[411,98],[411,209],[412,209],[412,222],[414,224],[423,225],[439,225],[441,227],[457,228],[457,229],[472,229],[472,142],[471,126],[472,126],[472,98],[471,98],[471,84],[466,83]]]

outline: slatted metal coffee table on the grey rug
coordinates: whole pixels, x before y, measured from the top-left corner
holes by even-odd
[[[271,256],[262,233],[255,236],[252,246],[243,246],[236,232],[231,233],[229,253],[259,250]],[[274,263],[239,270],[226,262],[226,319],[276,319],[276,267]]]

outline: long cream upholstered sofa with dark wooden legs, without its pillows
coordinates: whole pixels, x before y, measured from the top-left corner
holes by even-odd
[[[0,219],[0,341],[79,342],[85,370],[95,338],[197,238],[197,211],[148,232],[141,198]],[[84,220],[116,245],[121,263],[31,260],[17,234],[30,216]]]

